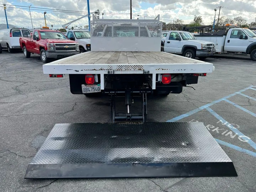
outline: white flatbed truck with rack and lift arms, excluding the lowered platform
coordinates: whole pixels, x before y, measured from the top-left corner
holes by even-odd
[[[197,84],[198,77],[214,70],[211,63],[160,52],[161,28],[159,17],[158,20],[94,18],[91,52],[45,64],[43,72],[52,78],[68,74],[72,94],[111,95],[112,122],[145,122],[147,94],[179,94],[183,86]],[[116,113],[114,103],[119,95],[126,98],[127,113]],[[142,114],[130,111],[136,96],[141,98],[137,106],[142,106]]]

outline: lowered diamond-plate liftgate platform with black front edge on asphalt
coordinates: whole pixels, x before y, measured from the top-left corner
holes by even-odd
[[[55,124],[25,178],[237,176],[203,123]]]

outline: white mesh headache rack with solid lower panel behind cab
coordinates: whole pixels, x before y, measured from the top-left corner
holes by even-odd
[[[162,22],[159,16],[151,20],[94,18],[90,24],[92,51],[160,51]]]

